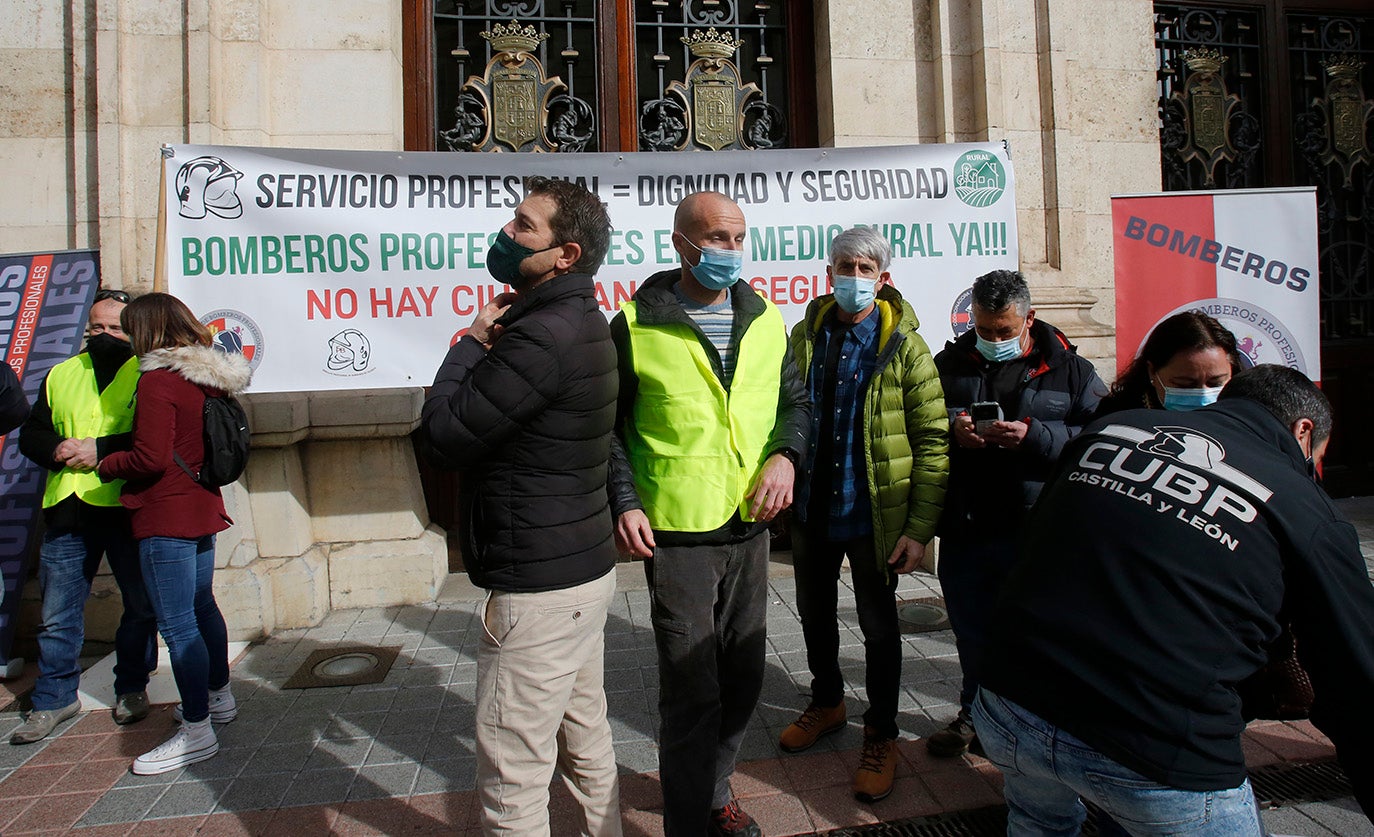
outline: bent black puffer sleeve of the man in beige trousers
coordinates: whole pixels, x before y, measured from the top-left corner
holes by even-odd
[[[543,326],[513,324],[488,352],[464,335],[448,350],[420,412],[441,460],[473,467],[558,394],[559,356]]]

